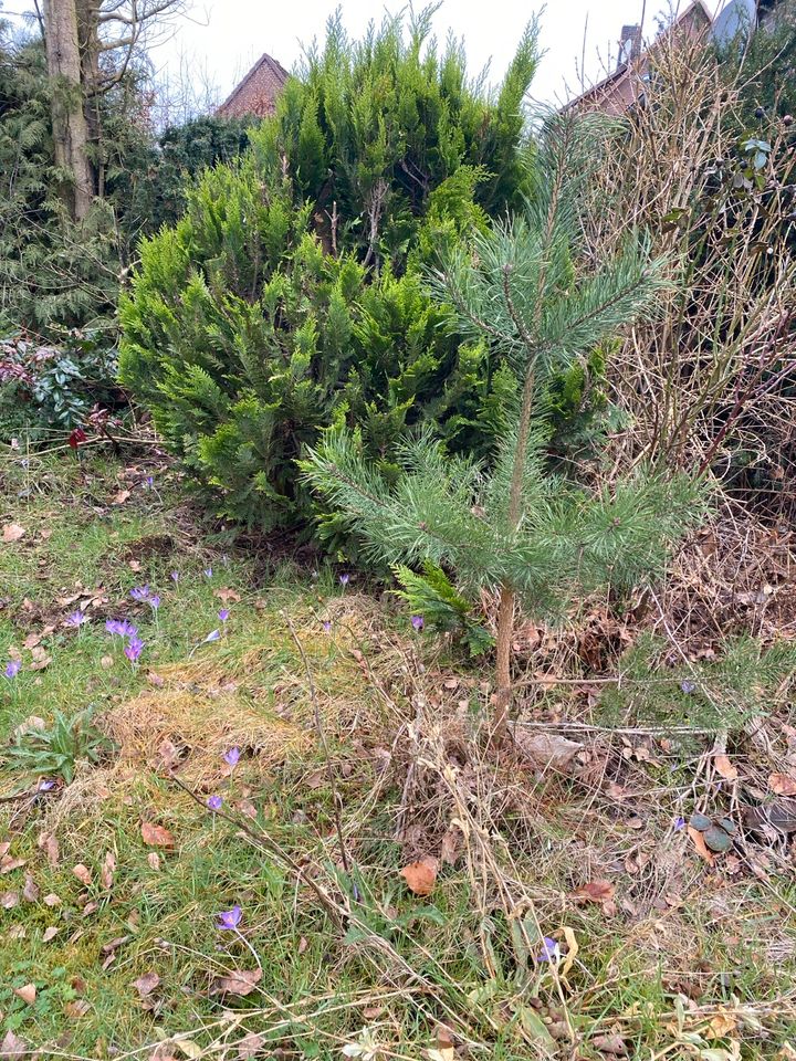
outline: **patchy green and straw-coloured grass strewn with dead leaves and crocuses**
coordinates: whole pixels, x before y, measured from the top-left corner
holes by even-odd
[[[163,705],[184,696],[196,713],[175,715],[170,732],[188,749],[188,773],[178,776],[199,801],[157,756],[126,759],[124,747],[77,764],[73,784],[45,794],[35,792],[35,770],[0,760],[0,843],[24,860],[0,875],[0,892],[17,897],[0,910],[2,1034],[85,1058],[149,1057],[171,1037],[164,1055],[190,1059],[237,1057],[251,1033],[262,1037],[265,1057],[326,1059],[370,1029],[383,1057],[407,1061],[453,1061],[444,1043],[441,1058],[428,1052],[439,1021],[451,1028],[455,1057],[503,1061],[598,1059],[595,1037],[605,1034],[620,1036],[629,1057],[731,1061],[737,1041],[744,1059],[762,1059],[796,1036],[788,942],[796,890],[775,872],[757,880],[733,879],[722,865],[705,871],[672,832],[692,784],[692,749],[681,759],[674,749],[666,766],[627,765],[641,794],[632,806],[606,803],[598,788],[566,779],[540,780],[522,764],[495,765],[476,742],[462,743],[473,715],[462,721],[457,706],[462,696],[478,702],[482,675],[459,670],[469,692],[446,692],[450,661],[430,638],[409,635],[406,616],[350,599],[350,588],[346,599],[332,571],[313,580],[232,546],[224,558],[207,545],[212,536],[186,507],[174,473],[138,468],[139,480],[155,475],[154,489],[136,485],[118,505],[113,498],[123,482],[130,489],[130,476],[119,479],[123,466],[102,458],[2,468],[2,523],[25,535],[0,546],[0,662],[13,650],[23,662],[18,677],[1,679],[0,742],[8,747],[30,716],[52,726],[56,712],[70,718],[86,707],[101,728],[151,711],[155,732]],[[129,597],[144,582],[161,593],[157,623]],[[229,605],[226,635],[201,644],[220,626],[220,589],[241,599]],[[83,590],[102,599],[90,623],[66,629],[76,602],[65,601]],[[326,614],[331,635],[321,626]],[[139,626],[146,647],[137,668],[105,631],[109,616]],[[48,626],[38,648],[50,662],[35,671],[24,640]],[[317,691],[334,790],[294,634]],[[420,692],[422,733],[410,737]],[[223,733],[239,710],[260,721],[259,736],[240,740],[244,757],[224,777],[216,745],[209,755],[191,738],[216,740],[210,724]],[[265,754],[277,724],[306,731],[301,752],[269,745]],[[195,760],[207,776],[190,773]],[[201,806],[210,792],[233,811],[247,800],[255,817],[235,811],[230,824],[211,815]],[[415,830],[406,847],[395,839],[401,807]],[[461,857],[441,868],[431,896],[411,895],[399,868],[438,852],[453,820],[469,836]],[[174,849],[148,845],[144,821],[168,829]],[[57,840],[52,863],[43,833]],[[108,852],[111,886],[102,881]],[[87,885],[73,872],[80,863]],[[605,875],[616,882],[614,912],[569,899]],[[28,878],[35,893],[29,885],[25,899]],[[44,903],[50,895],[57,905]],[[235,903],[242,936],[217,927],[218,913]],[[563,939],[565,928],[579,953],[558,983],[534,955],[538,929]],[[251,994],[217,991],[220,977],[259,966]],[[159,983],[142,998],[135,981],[150,973]],[[31,983],[33,1005],[14,995]],[[722,1013],[730,1025],[711,1027]]]

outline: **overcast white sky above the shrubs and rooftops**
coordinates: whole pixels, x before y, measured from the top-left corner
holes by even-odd
[[[541,12],[542,46],[546,54],[532,87],[535,99],[566,98],[566,86],[578,91],[582,62],[587,83],[612,69],[617,41],[625,23],[640,21],[651,34],[661,12],[684,10],[690,0],[444,0],[434,30],[444,40],[452,30],[463,38],[472,74],[490,63],[490,81],[498,82],[509,64],[528,19]],[[706,0],[715,12],[726,0]],[[164,77],[179,83],[186,69],[207,77],[226,97],[263,52],[289,70],[302,45],[322,38],[337,0],[191,0],[191,15],[175,25],[170,39],[153,53]],[[404,0],[342,0],[344,23],[358,36],[371,19],[408,7]],[[30,9],[25,0],[7,0],[7,11]],[[416,9],[423,0],[415,0]],[[607,67],[606,64],[610,63]]]

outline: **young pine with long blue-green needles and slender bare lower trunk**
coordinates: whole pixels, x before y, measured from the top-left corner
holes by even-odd
[[[457,456],[428,431],[399,449],[387,481],[357,431],[328,430],[303,469],[338,507],[371,556],[430,561],[465,589],[500,593],[495,729],[512,698],[514,614],[566,612],[598,588],[629,588],[659,571],[671,545],[700,518],[700,491],[687,475],[637,470],[598,489],[551,472],[545,381],[582,363],[625,324],[650,314],[669,286],[666,262],[642,238],[599,267],[579,260],[584,180],[603,155],[603,123],[548,116],[530,169],[523,210],[444,256],[432,283],[457,309],[458,326],[489,344],[516,374],[492,466]]]

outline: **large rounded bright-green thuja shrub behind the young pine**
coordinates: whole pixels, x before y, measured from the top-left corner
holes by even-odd
[[[422,272],[523,196],[535,29],[491,95],[430,14],[359,43],[333,21],[250,150],[143,244],[121,377],[219,514],[337,546],[296,465],[323,429],[355,430],[388,479],[407,429],[476,455],[500,430],[513,376]]]

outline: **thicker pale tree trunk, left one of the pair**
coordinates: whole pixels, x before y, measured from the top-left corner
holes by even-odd
[[[82,221],[94,198],[88,160],[88,128],[83,111],[81,53],[75,0],[45,0],[48,72],[52,82],[52,128],[55,165],[70,174],[64,199]]]

